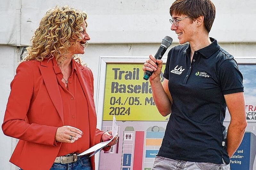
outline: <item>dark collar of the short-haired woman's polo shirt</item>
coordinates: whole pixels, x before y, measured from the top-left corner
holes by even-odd
[[[197,52],[202,54],[205,58],[209,58],[211,55],[213,55],[220,48],[216,39],[210,37],[210,40],[211,40],[210,45],[197,50]],[[190,53],[190,45],[188,45],[188,47],[184,50],[184,52],[185,53]]]

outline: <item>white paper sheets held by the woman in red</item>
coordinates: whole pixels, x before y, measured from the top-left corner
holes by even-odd
[[[117,135],[117,132],[118,132],[118,125],[117,125],[115,116],[113,116],[112,129],[111,129],[111,134],[113,136],[112,139],[110,139],[108,141],[105,141],[105,142],[95,144],[93,147],[91,147],[91,148],[87,149],[86,151],[80,153],[78,156],[86,155],[88,153],[95,152],[95,151],[97,151],[97,152],[100,151],[103,147],[107,146],[114,139],[114,137]],[[94,154],[95,153],[93,153],[93,155]]]

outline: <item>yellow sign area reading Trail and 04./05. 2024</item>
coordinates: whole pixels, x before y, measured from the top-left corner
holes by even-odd
[[[159,114],[143,64],[107,64],[103,121],[165,121]],[[162,71],[164,68],[162,68]],[[162,74],[161,74],[162,78]]]

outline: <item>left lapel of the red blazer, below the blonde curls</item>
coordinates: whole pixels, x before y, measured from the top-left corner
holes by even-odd
[[[44,79],[45,86],[49,93],[49,96],[50,96],[57,112],[59,113],[62,122],[64,122],[62,98],[61,98],[60,89],[58,87],[58,81],[57,81],[56,74],[54,72],[53,67],[54,66],[53,66],[52,61],[45,59],[41,62],[39,69],[40,69],[42,77]]]

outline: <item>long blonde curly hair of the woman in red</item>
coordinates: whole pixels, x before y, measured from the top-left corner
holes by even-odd
[[[86,19],[85,12],[69,6],[56,6],[47,11],[31,39],[31,45],[27,47],[24,61],[43,61],[55,57],[58,64],[62,63],[70,47],[70,38],[75,42],[80,38],[82,23],[85,22],[87,26]],[[77,55],[73,55],[73,58],[81,63]]]

